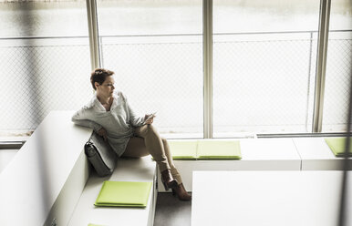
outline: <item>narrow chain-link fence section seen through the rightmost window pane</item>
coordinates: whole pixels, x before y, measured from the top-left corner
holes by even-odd
[[[352,67],[352,32],[329,34],[323,131],[347,131]]]

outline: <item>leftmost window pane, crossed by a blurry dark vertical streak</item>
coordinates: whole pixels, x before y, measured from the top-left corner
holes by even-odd
[[[84,2],[0,3],[0,130],[35,129],[50,110],[88,101],[86,12]]]

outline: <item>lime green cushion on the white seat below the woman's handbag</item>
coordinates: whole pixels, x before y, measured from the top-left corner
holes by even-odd
[[[146,207],[151,182],[104,181],[96,206]]]

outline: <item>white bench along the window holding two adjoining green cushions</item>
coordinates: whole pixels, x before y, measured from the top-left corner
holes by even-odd
[[[192,172],[196,170],[301,170],[301,159],[292,139],[239,140],[242,159],[175,159],[174,163],[180,171],[185,189],[192,191]],[[160,180],[160,176],[158,178]],[[160,181],[159,184],[161,184]],[[159,191],[165,190],[160,186]]]

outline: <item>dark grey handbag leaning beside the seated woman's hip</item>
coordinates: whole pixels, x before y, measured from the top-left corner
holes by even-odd
[[[116,168],[118,155],[109,143],[93,132],[84,146],[85,154],[99,177],[110,175]]]

